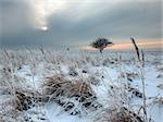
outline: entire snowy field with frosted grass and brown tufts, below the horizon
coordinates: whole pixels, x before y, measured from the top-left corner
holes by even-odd
[[[162,54],[1,49],[0,122],[163,122]]]

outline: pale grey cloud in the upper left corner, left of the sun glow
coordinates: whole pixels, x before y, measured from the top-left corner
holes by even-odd
[[[27,0],[1,0],[3,35],[15,34],[33,27],[33,11]]]

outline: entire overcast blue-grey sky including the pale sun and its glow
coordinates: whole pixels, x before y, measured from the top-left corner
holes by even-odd
[[[162,0],[0,0],[1,46],[87,46],[162,38]]]

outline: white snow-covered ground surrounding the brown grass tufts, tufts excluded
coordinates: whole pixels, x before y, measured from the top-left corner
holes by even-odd
[[[126,107],[138,113],[145,81],[147,115],[154,122],[163,121],[163,62],[162,52],[146,52],[141,66],[135,52],[53,52],[50,50],[1,50],[0,56],[0,119],[9,122],[97,122],[110,107]],[[96,96],[99,108],[87,108],[73,98],[80,111],[65,111],[53,100],[37,102],[27,110],[16,110],[15,91],[29,96],[46,96],[47,77],[61,75],[64,80],[86,82]],[[66,87],[65,87],[66,88]],[[61,97],[61,96],[59,96]],[[32,98],[30,98],[32,99]],[[93,101],[91,101],[93,103]],[[18,105],[21,106],[21,103]],[[143,117],[142,109],[140,117]],[[98,121],[103,122],[103,121]]]

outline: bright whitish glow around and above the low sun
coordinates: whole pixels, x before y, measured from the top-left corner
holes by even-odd
[[[48,17],[57,12],[64,11],[65,0],[34,0],[35,25],[41,30],[47,30]]]

